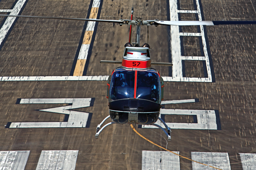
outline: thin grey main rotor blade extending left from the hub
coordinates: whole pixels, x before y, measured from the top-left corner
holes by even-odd
[[[66,19],[66,20],[78,20],[78,21],[97,21],[97,22],[114,22],[114,23],[124,23],[124,21],[121,21],[121,20],[85,19],[85,18],[59,18],[59,17],[27,16],[27,15],[6,15],[6,14],[0,14],[0,17],[22,17],[22,18]]]

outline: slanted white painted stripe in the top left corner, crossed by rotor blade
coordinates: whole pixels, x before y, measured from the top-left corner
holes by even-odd
[[[21,8],[25,4],[26,0],[18,0],[15,6],[13,7],[10,15],[18,15],[21,11]],[[2,44],[5,36],[7,35],[8,31],[12,27],[16,17],[7,17],[7,19],[4,22],[4,25],[0,29],[0,44]]]

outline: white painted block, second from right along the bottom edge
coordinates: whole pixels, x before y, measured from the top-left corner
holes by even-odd
[[[230,170],[230,162],[227,153],[222,152],[191,152],[191,159],[197,162],[217,167],[222,170]],[[214,168],[192,162],[193,170],[213,170]]]

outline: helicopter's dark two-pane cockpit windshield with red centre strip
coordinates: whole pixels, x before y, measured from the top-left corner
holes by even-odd
[[[160,86],[160,78],[156,72],[118,70],[111,77],[110,101],[138,98],[160,104]]]

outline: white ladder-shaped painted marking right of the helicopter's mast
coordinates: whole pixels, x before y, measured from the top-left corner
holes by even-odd
[[[198,0],[196,0],[197,11],[193,10],[178,10],[177,1],[169,0],[170,5],[170,21],[178,21],[178,13],[198,13],[199,21],[202,21],[201,10]],[[211,23],[206,23],[211,24]],[[211,68],[209,55],[206,47],[206,40],[204,35],[203,26],[200,26],[201,33],[179,33],[179,26],[170,26],[171,27],[171,55],[172,55],[172,77],[163,77],[164,81],[186,81],[186,82],[212,82],[211,77]],[[201,35],[200,35],[201,34]],[[182,60],[190,59],[190,56],[181,56],[181,47],[180,47],[180,36],[201,36],[203,51],[204,51],[204,60],[206,61],[206,69],[208,78],[186,78],[182,75]],[[203,58],[200,58],[203,59]]]

